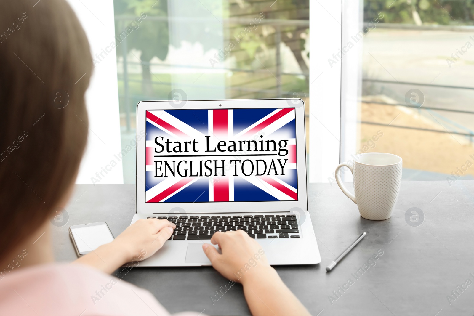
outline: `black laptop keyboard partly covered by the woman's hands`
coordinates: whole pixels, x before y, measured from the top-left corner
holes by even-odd
[[[300,238],[296,215],[150,216],[176,225],[168,240],[206,240],[216,232],[242,229],[252,238]]]

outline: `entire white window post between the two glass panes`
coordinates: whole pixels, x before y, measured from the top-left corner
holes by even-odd
[[[337,165],[356,152],[362,40],[342,60],[333,54],[361,29],[362,9],[354,0],[310,5],[310,182],[335,183]],[[347,173],[343,181],[352,181]]]

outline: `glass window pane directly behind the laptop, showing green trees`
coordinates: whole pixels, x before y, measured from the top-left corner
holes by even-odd
[[[114,0],[124,182],[141,100],[299,97],[309,104],[309,0]]]

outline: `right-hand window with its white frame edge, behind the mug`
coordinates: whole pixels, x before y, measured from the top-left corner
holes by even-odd
[[[387,152],[402,157],[403,180],[473,179],[474,5],[354,2],[341,44],[340,161]]]

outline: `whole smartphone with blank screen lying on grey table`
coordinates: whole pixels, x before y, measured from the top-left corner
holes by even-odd
[[[78,257],[114,240],[114,236],[106,222],[71,226],[69,227],[69,237],[73,241],[74,250]]]

